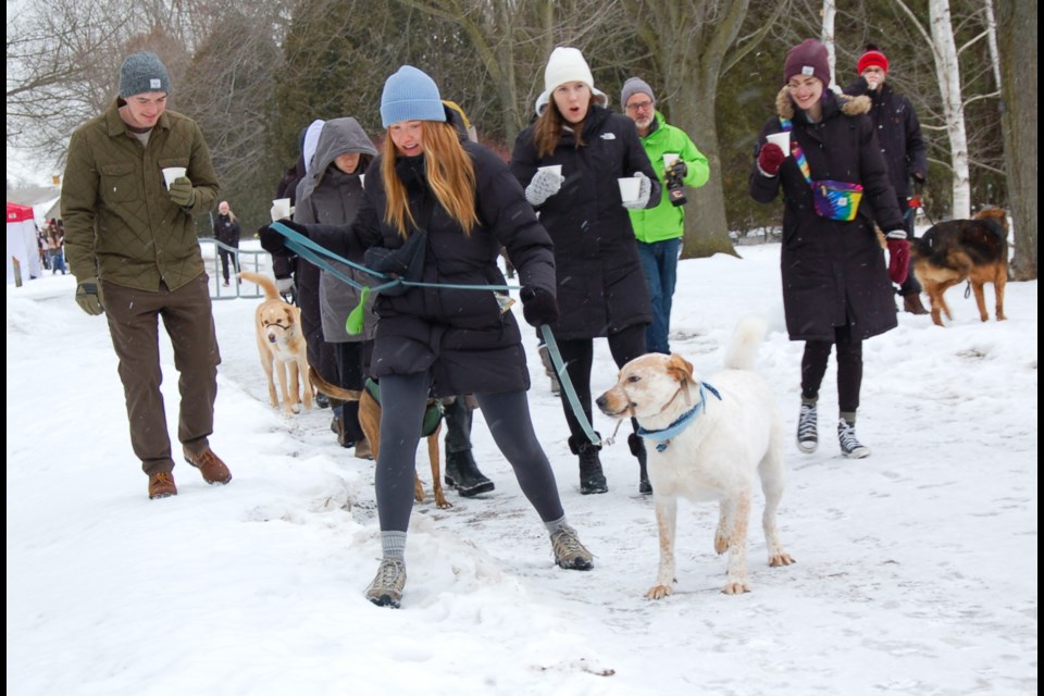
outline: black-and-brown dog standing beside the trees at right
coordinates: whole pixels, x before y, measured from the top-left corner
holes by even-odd
[[[949,220],[934,225],[919,239],[910,240],[913,273],[932,302],[932,321],[943,325],[940,313],[953,320],[943,298],[947,289],[966,278],[975,294],[979,318],[990,319],[983,285],[993,283],[997,321],[1004,315],[1004,284],[1008,282],[1008,219],[1000,208],[986,208],[972,220]]]

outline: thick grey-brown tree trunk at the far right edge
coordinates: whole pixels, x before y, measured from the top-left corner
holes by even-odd
[[[1011,278],[1036,279],[1036,3],[997,0],[1004,85],[1004,151],[1015,225]]]

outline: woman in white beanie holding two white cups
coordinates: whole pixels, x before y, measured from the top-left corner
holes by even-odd
[[[645,353],[652,311],[627,209],[660,202],[634,122],[607,103],[580,50],[556,48],[536,100],[538,117],[519,134],[511,156],[511,172],[555,243],[559,318],[551,330],[588,422],[593,339],[606,336],[621,366]],[[561,173],[540,169],[547,165],[561,165]],[[641,181],[639,195],[624,201],[617,179],[630,176]],[[570,449],[580,457],[580,492],[606,493],[600,445],[584,435],[568,400],[562,407]],[[641,462],[642,442],[632,440]]]

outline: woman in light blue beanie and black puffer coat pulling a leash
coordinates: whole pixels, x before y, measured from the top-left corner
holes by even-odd
[[[526,322],[554,322],[551,241],[504,161],[461,141],[445,110],[431,77],[400,67],[384,85],[384,152],[368,170],[351,227],[282,221],[348,259],[368,256],[368,265],[402,261],[406,279],[426,285],[388,288],[373,304],[378,321],[370,370],[381,381],[375,484],[384,558],[365,596],[378,606],[398,607],[406,584],[413,469],[430,393],[475,395],[497,447],[550,534],[558,566],[594,567],[567,523],[533,430],[525,398],[530,373],[514,315],[494,290],[459,287],[505,285],[497,258],[507,247],[519,269]],[[261,229],[261,241],[285,253],[271,227]]]

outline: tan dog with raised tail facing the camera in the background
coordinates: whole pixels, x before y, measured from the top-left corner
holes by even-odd
[[[304,408],[312,408],[312,385],[308,380],[308,346],[301,328],[301,310],[283,301],[272,278],[247,272],[240,273],[239,277],[256,283],[264,290],[264,301],[258,304],[254,312],[254,330],[261,368],[269,378],[269,400],[272,406],[279,406],[272,375],[278,370],[283,412],[289,415],[300,410],[299,388],[304,396]]]

